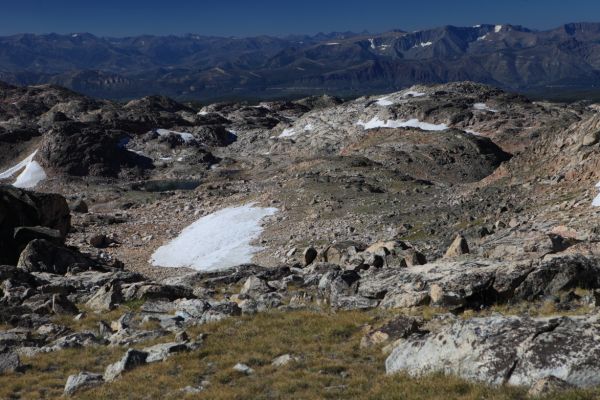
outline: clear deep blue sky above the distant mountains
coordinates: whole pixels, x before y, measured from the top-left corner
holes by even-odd
[[[283,36],[511,23],[600,21],[599,0],[0,0],[0,35],[198,33]]]

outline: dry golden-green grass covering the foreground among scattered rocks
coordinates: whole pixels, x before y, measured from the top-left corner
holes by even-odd
[[[122,313],[122,311],[121,311]],[[190,329],[207,334],[194,352],[142,366],[99,388],[79,393],[81,399],[180,399],[179,389],[206,390],[198,399],[526,399],[522,388],[489,387],[459,378],[431,375],[410,378],[385,375],[379,348],[361,349],[366,324],[379,324],[391,312],[273,311],[230,318]],[[169,341],[171,338],[160,340]],[[144,347],[144,346],[138,346]],[[0,376],[1,399],[50,399],[62,394],[66,378],[79,371],[103,372],[123,348],[97,347],[41,354],[24,360],[25,373]],[[275,368],[271,361],[290,353],[299,362]],[[255,371],[246,376],[232,367],[242,362]],[[600,391],[576,391],[551,397],[561,400],[600,398]]]

